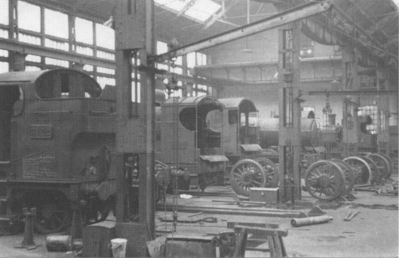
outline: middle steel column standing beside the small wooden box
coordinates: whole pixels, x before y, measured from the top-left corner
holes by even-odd
[[[300,22],[279,30],[280,200],[301,198]]]

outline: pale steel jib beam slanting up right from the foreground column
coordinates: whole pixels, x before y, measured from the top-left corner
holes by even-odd
[[[276,15],[259,21],[226,31],[216,36],[208,37],[200,41],[173,49],[169,52],[153,56],[156,62],[163,62],[174,57],[185,55],[211,46],[223,44],[238,38],[246,37],[271,28],[275,28],[296,20],[300,20],[318,13],[322,13],[331,7],[329,1],[309,2],[303,5],[282,11]]]

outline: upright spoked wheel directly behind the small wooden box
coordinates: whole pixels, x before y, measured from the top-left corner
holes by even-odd
[[[265,187],[266,172],[257,161],[242,159],[232,167],[230,183],[237,194],[249,196],[250,187]]]

